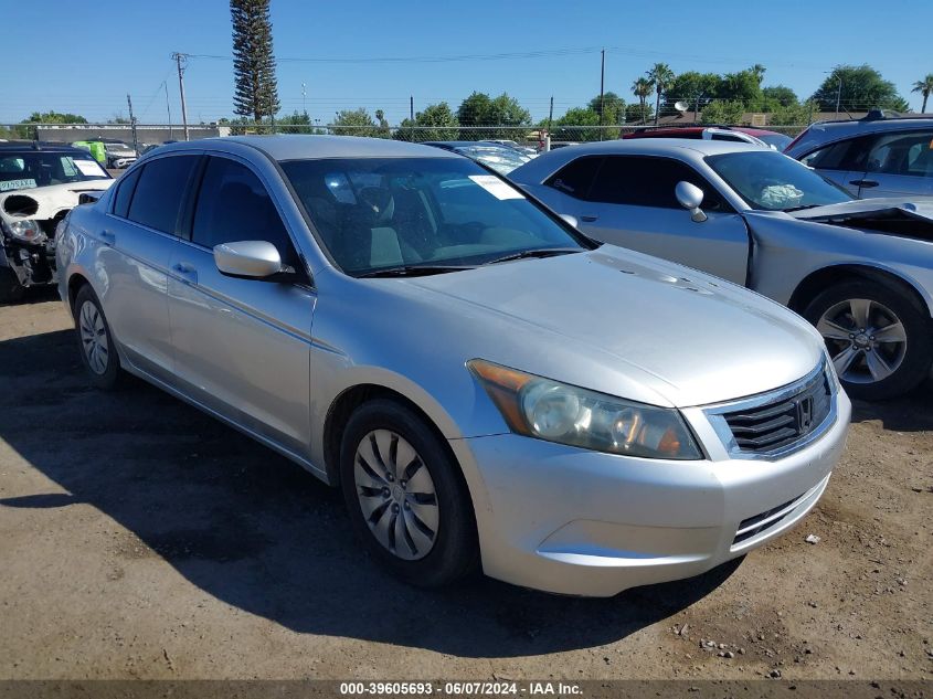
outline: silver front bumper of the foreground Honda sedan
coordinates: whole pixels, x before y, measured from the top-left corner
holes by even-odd
[[[724,449],[704,462],[639,459],[513,434],[452,439],[476,476],[483,569],[527,587],[611,596],[742,555],[794,527],[823,495],[851,415],[844,392],[837,401],[819,439],[776,460]],[[698,432],[708,435],[708,425]]]

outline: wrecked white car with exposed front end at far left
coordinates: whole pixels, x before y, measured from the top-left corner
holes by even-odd
[[[55,229],[114,180],[89,152],[61,144],[0,144],[0,303],[55,284]]]

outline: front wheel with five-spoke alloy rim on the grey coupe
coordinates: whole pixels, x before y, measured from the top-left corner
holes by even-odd
[[[895,398],[930,372],[933,322],[895,288],[867,279],[844,282],[817,296],[804,317],[823,335],[852,398]]]

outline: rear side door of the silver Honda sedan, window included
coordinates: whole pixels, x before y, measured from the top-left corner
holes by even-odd
[[[126,358],[171,382],[173,352],[168,313],[168,265],[178,240],[181,202],[198,155],[157,158],[116,183],[99,232],[100,303]]]

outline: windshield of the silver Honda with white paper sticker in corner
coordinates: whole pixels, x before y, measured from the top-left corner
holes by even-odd
[[[290,160],[282,168],[320,242],[354,276],[595,245],[465,158]]]

